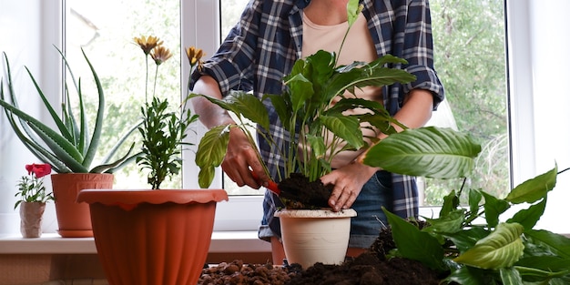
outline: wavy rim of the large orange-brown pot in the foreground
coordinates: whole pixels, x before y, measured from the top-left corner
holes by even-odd
[[[209,203],[228,200],[224,189],[84,189],[77,202],[105,205],[137,205],[140,203],[177,204]]]

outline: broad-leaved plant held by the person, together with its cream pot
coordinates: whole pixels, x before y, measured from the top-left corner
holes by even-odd
[[[357,15],[361,13],[361,6],[358,1],[349,1],[347,5],[349,29],[354,23]],[[402,58],[395,56],[382,56],[371,63],[354,62],[348,66],[337,66],[336,54],[319,51],[314,55],[297,60],[292,68],[292,72],[285,76],[283,81],[286,90],[279,95],[265,95],[258,98],[252,94],[233,91],[228,97],[219,100],[206,97],[210,102],[217,104],[232,113],[237,114],[238,124],[230,126],[213,127],[201,139],[196,154],[196,163],[200,167],[198,180],[201,187],[207,187],[213,178],[214,168],[218,167],[224,159],[225,151],[229,142],[229,129],[233,127],[241,128],[249,137],[251,146],[256,146],[255,139],[249,133],[248,122],[257,124],[257,132],[270,144],[272,151],[286,158],[282,172],[278,173],[278,187],[272,190],[278,192],[286,208],[276,213],[281,221],[281,234],[283,247],[290,263],[300,263],[303,267],[313,264],[315,261],[325,263],[339,263],[344,260],[348,246],[350,218],[356,213],[353,210],[342,210],[333,212],[328,208],[328,198],[330,189],[324,188],[319,178],[331,171],[331,160],[338,153],[336,145],[342,140],[346,145],[341,150],[368,150],[375,151],[372,147],[378,143],[376,137],[365,137],[361,126],[368,123],[382,133],[391,135],[396,133],[393,126],[406,128],[396,119],[390,116],[389,112],[381,103],[364,100],[357,97],[346,96],[345,91],[367,86],[384,86],[393,83],[407,83],[415,79],[415,76],[398,68],[387,67],[388,64],[398,65],[406,63]],[[201,95],[191,94],[190,97]],[[341,97],[334,105],[333,99]],[[269,101],[265,103],[265,101]],[[273,137],[270,137],[265,130],[269,129],[269,116],[264,104],[270,104],[277,111],[280,121],[285,130],[290,134],[290,140],[279,145]],[[364,115],[345,115],[344,111],[354,108],[365,109]],[[328,133],[328,139],[323,134]],[[461,141],[467,144],[468,148],[447,148],[446,152],[435,152],[434,155],[441,154],[442,157],[462,157],[467,165],[458,166],[458,171],[466,171],[469,161],[473,160],[478,151],[471,148],[473,141],[469,137],[455,133],[452,130],[440,130],[437,128],[424,128],[422,130],[406,131],[404,137],[419,136],[446,136],[452,140]],[[425,135],[424,135],[425,134]],[[390,137],[390,136],[389,136]],[[422,137],[420,137],[422,139]],[[442,139],[444,142],[444,140]],[[382,142],[381,142],[382,143]],[[402,144],[403,145],[403,144]],[[305,148],[299,148],[305,146]],[[372,148],[371,148],[372,147]],[[428,146],[432,147],[432,146]],[[370,148],[370,149],[369,149]],[[416,149],[430,152],[433,148]],[[439,149],[438,149],[439,150]],[[467,150],[467,151],[465,151]],[[258,152],[259,153],[259,152]],[[392,157],[393,158],[393,157]],[[263,164],[260,158],[261,164]],[[471,162],[473,164],[473,161]],[[265,165],[264,165],[265,166]],[[382,165],[383,166],[383,165]],[[457,165],[455,165],[457,166]],[[424,168],[425,165],[422,165]],[[390,170],[390,168],[385,168]],[[266,172],[267,170],[266,167]],[[302,178],[301,182],[290,183],[291,179]],[[320,185],[321,188],[294,188],[296,185]],[[293,206],[301,206],[301,209],[290,210]],[[288,233],[290,219],[300,218],[304,222],[314,221],[315,217],[322,217],[328,222],[338,219],[344,223],[343,226],[326,226],[321,235],[331,237],[331,227],[342,228],[342,233],[336,233],[335,237],[342,237],[341,246],[331,243],[331,248],[320,245],[321,252],[312,252],[319,247],[303,246],[306,240],[295,241]],[[311,219],[307,219],[311,218]],[[285,220],[287,219],[287,220]],[[301,226],[300,232],[307,235],[314,233],[318,229],[315,225]],[[327,240],[327,239],[319,239]],[[295,244],[300,245],[297,247]],[[292,253],[292,249],[300,249],[299,255]],[[334,257],[324,258],[325,252],[334,250]],[[302,258],[301,258],[302,257]],[[306,258],[306,260],[305,260]],[[324,259],[324,260],[323,260]]]

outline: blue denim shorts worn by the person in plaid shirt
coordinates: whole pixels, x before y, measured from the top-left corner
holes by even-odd
[[[270,240],[272,236],[280,237],[279,219],[273,217],[276,204],[277,207],[282,207],[279,198],[266,191],[263,204],[264,215],[258,231],[259,238]],[[351,219],[350,248],[370,248],[382,227],[388,225],[382,206],[392,211],[392,174],[384,170],[376,172],[364,184],[352,204],[357,216]]]

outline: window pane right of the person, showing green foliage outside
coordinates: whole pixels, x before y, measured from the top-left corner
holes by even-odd
[[[482,188],[504,197],[510,189],[504,1],[432,0],[430,6],[435,67],[449,104],[434,112],[433,121],[456,125],[482,145],[464,188]],[[451,121],[442,119],[449,115]],[[442,205],[443,196],[463,183],[463,179],[423,181],[425,206]]]

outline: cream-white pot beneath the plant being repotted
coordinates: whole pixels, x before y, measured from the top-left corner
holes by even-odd
[[[341,264],[346,256],[351,234],[353,209],[280,209],[281,238],[289,264],[307,269],[317,262]]]

